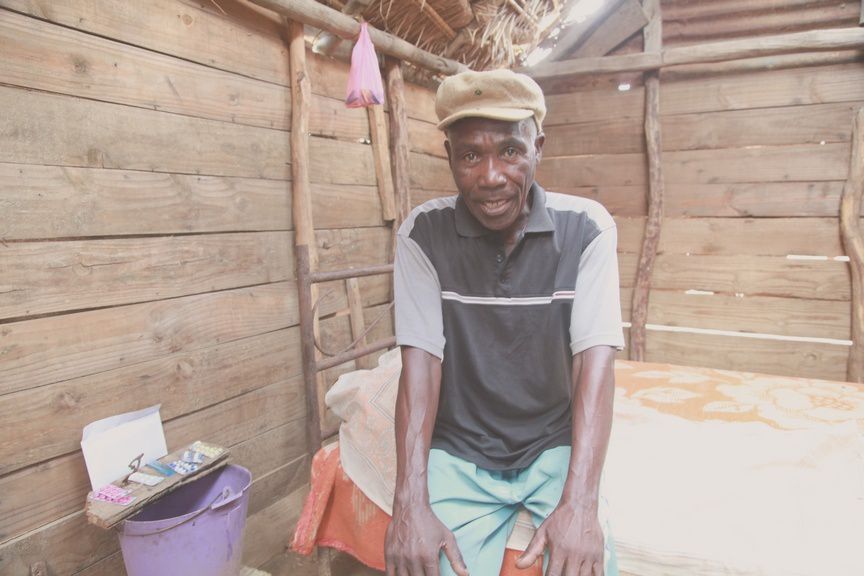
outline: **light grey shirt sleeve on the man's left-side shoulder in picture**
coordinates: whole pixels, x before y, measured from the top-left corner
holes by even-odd
[[[441,283],[423,249],[410,236],[396,235],[393,269],[396,343],[444,358]]]

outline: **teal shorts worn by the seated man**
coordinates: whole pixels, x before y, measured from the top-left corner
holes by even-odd
[[[456,536],[471,576],[498,576],[520,509],[527,509],[539,526],[561,499],[569,463],[569,446],[546,450],[527,468],[507,471],[479,468],[443,450],[429,451],[432,510]],[[605,576],[618,576],[608,524],[603,524]],[[441,575],[451,574],[442,552]]]

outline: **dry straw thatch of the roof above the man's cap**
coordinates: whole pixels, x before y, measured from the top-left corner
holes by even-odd
[[[475,70],[510,67],[559,21],[558,0],[322,0]]]

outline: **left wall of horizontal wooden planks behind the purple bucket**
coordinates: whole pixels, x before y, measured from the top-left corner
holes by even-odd
[[[219,4],[0,0],[0,575],[124,573],[82,513],[81,428],[155,403],[169,448],[252,471],[244,560],[279,573],[309,467],[287,48],[278,18]],[[366,112],[347,66],[309,58],[321,267],[386,262]],[[431,94],[408,92],[415,184],[445,189]],[[389,281],[361,286],[371,320]]]

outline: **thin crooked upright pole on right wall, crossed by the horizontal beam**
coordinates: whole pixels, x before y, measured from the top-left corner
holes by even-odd
[[[659,54],[663,43],[663,24],[660,0],[645,0],[649,16],[644,31],[645,52]],[[660,128],[660,71],[645,74],[645,143],[648,155],[648,218],[642,238],[642,251],[636,270],[633,301],[630,307],[631,360],[645,360],[645,325],[648,321],[648,297],[651,292],[651,274],[657,258],[660,228],[663,223],[663,144]]]

